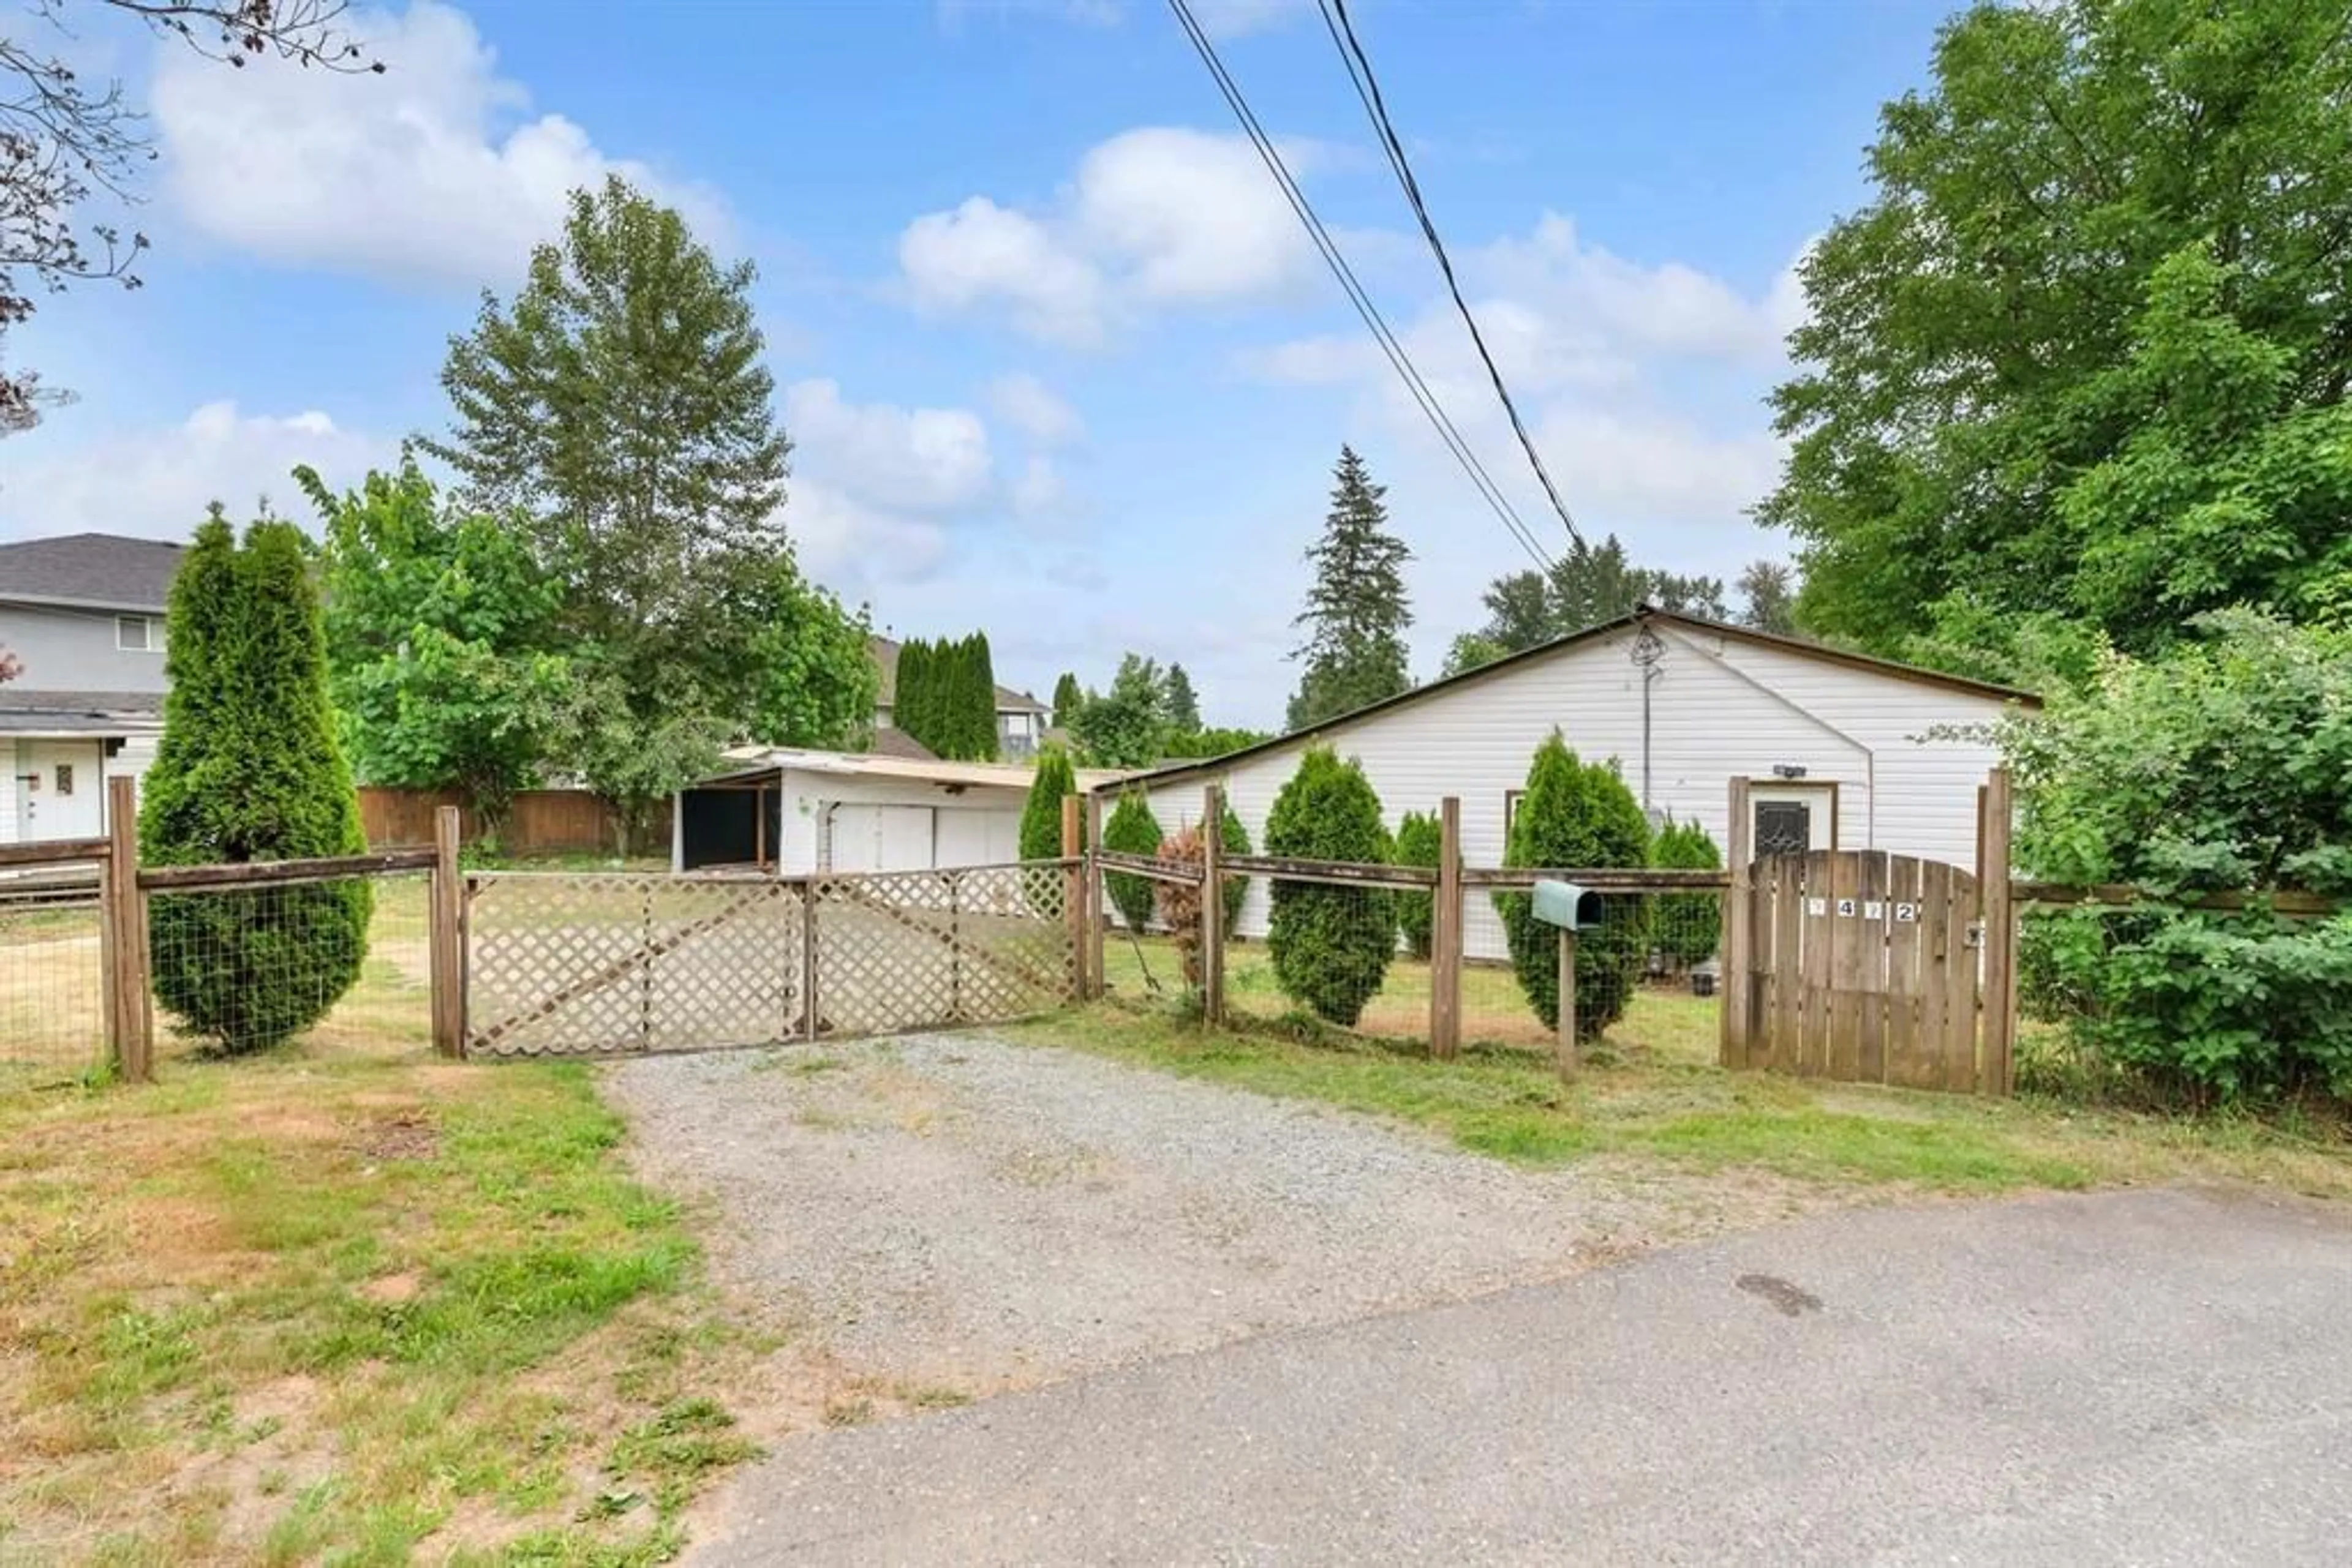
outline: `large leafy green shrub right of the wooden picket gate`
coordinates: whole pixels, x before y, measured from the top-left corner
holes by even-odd
[[[2183,910],[2213,891],[2352,893],[2352,632],[2201,616],[2157,661],[2004,726],[2018,867],[2122,882],[2129,912],[2027,917],[2020,987],[2074,1041],[2197,1098],[2352,1098],[2352,919]]]

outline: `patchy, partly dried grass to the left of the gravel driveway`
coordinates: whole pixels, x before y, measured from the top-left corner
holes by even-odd
[[[590,1070],[435,1063],[374,938],[306,1041],[0,1093],[0,1563],[668,1561],[750,1453]]]

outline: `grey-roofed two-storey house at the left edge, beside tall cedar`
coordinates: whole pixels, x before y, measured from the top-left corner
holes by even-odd
[[[118,534],[0,545],[0,844],[106,832],[106,778],[162,733],[162,618],[181,548]]]

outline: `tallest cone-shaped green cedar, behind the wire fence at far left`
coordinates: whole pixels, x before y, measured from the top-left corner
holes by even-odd
[[[238,545],[214,508],[172,583],[165,731],[139,809],[141,860],[212,865],[367,849],[327,703],[301,531]],[[151,900],[155,997],[223,1051],[275,1046],[360,978],[367,882]]]

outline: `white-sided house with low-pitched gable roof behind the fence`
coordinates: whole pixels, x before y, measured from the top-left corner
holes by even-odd
[[[1463,860],[1501,865],[1526,766],[1552,729],[1585,762],[1616,759],[1653,823],[1672,813],[1726,842],[1729,785],[1745,773],[1757,853],[1886,849],[1973,865],[1976,785],[1999,762],[1985,726],[2037,698],[2006,686],[1842,654],[1672,611],[1642,609],[1479,670],[1211,762],[1129,780],[1174,832],[1218,780],[1265,844],[1265,813],[1312,741],[1364,764],[1388,825],[1461,799]],[[1929,738],[1929,731],[1945,731]],[[1240,931],[1265,931],[1251,884]],[[1463,922],[1472,957],[1503,957],[1484,898]]]

